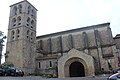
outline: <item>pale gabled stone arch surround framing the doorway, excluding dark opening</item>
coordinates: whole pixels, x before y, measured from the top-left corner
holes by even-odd
[[[69,66],[75,61],[83,64],[85,76],[93,76],[95,74],[93,57],[82,51],[71,49],[68,53],[58,59],[58,77],[70,77]]]

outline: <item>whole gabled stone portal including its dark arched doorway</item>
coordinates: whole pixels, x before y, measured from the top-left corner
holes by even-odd
[[[79,67],[79,68],[78,68]],[[78,68],[77,74],[73,74]],[[83,70],[83,71],[82,71]],[[93,57],[76,49],[71,49],[67,54],[58,59],[58,77],[93,76],[95,72]],[[78,75],[82,73],[81,75]]]

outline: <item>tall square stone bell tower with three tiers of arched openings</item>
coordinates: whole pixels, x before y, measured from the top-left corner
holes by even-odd
[[[27,0],[10,6],[6,61],[26,74],[35,70],[37,9]]]

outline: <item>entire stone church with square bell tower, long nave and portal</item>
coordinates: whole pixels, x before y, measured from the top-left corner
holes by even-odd
[[[36,22],[27,0],[10,6],[6,61],[25,74],[86,77],[119,68],[120,37],[113,38],[110,23],[36,36]]]

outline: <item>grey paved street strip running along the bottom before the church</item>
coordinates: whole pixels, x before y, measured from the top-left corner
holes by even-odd
[[[0,77],[0,80],[107,80],[107,77],[87,78],[41,78],[41,77]]]

